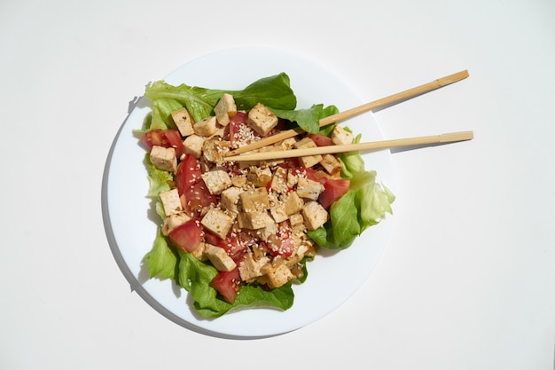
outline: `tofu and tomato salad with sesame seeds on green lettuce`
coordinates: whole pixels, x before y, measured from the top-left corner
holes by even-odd
[[[337,107],[298,109],[285,73],[241,91],[158,81],[145,97],[152,113],[136,132],[160,227],[143,261],[151,278],[184,287],[202,317],[287,310],[318,248],[348,248],[392,213],[395,196],[358,153],[226,161],[234,149],[296,127],[305,133],[257,150],[360,140],[340,125],[319,126]]]

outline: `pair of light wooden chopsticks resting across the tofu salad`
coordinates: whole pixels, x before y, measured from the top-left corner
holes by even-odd
[[[356,106],[354,108],[348,109],[344,112],[338,114],[332,114],[328,117],[320,120],[320,127],[326,126],[328,124],[339,122],[348,119],[356,114],[362,114],[364,112],[371,111],[383,106],[388,106],[408,98],[413,98],[418,95],[424,94],[428,91],[434,91],[443,86],[447,86],[451,83],[457,83],[468,77],[468,71],[464,70],[453,75],[447,75],[445,77],[434,80],[431,83],[425,83],[423,85],[414,87],[412,89],[401,91],[393,95],[389,95],[386,98],[380,98],[378,100],[371,101],[370,103],[363,104],[362,106]],[[292,149],[292,150],[278,150],[254,154],[244,154],[246,152],[253,151],[255,149],[262,148],[264,146],[270,146],[279,141],[285,140],[286,138],[293,138],[304,132],[301,128],[294,128],[292,130],[285,130],[272,135],[269,138],[263,138],[262,140],[255,141],[254,143],[235,149],[227,154],[224,158],[225,161],[267,161],[272,159],[284,159],[293,157],[302,157],[308,155],[317,154],[338,154],[338,153],[348,153],[356,151],[365,150],[379,150],[387,149],[399,146],[421,146],[428,144],[441,144],[441,143],[452,143],[457,141],[471,140],[473,138],[473,131],[463,131],[463,132],[452,132],[441,135],[432,135],[417,138],[398,138],[392,140],[381,140],[369,143],[358,143],[349,144],[341,146],[319,146],[316,148],[308,149]],[[242,154],[242,155],[239,155]]]

